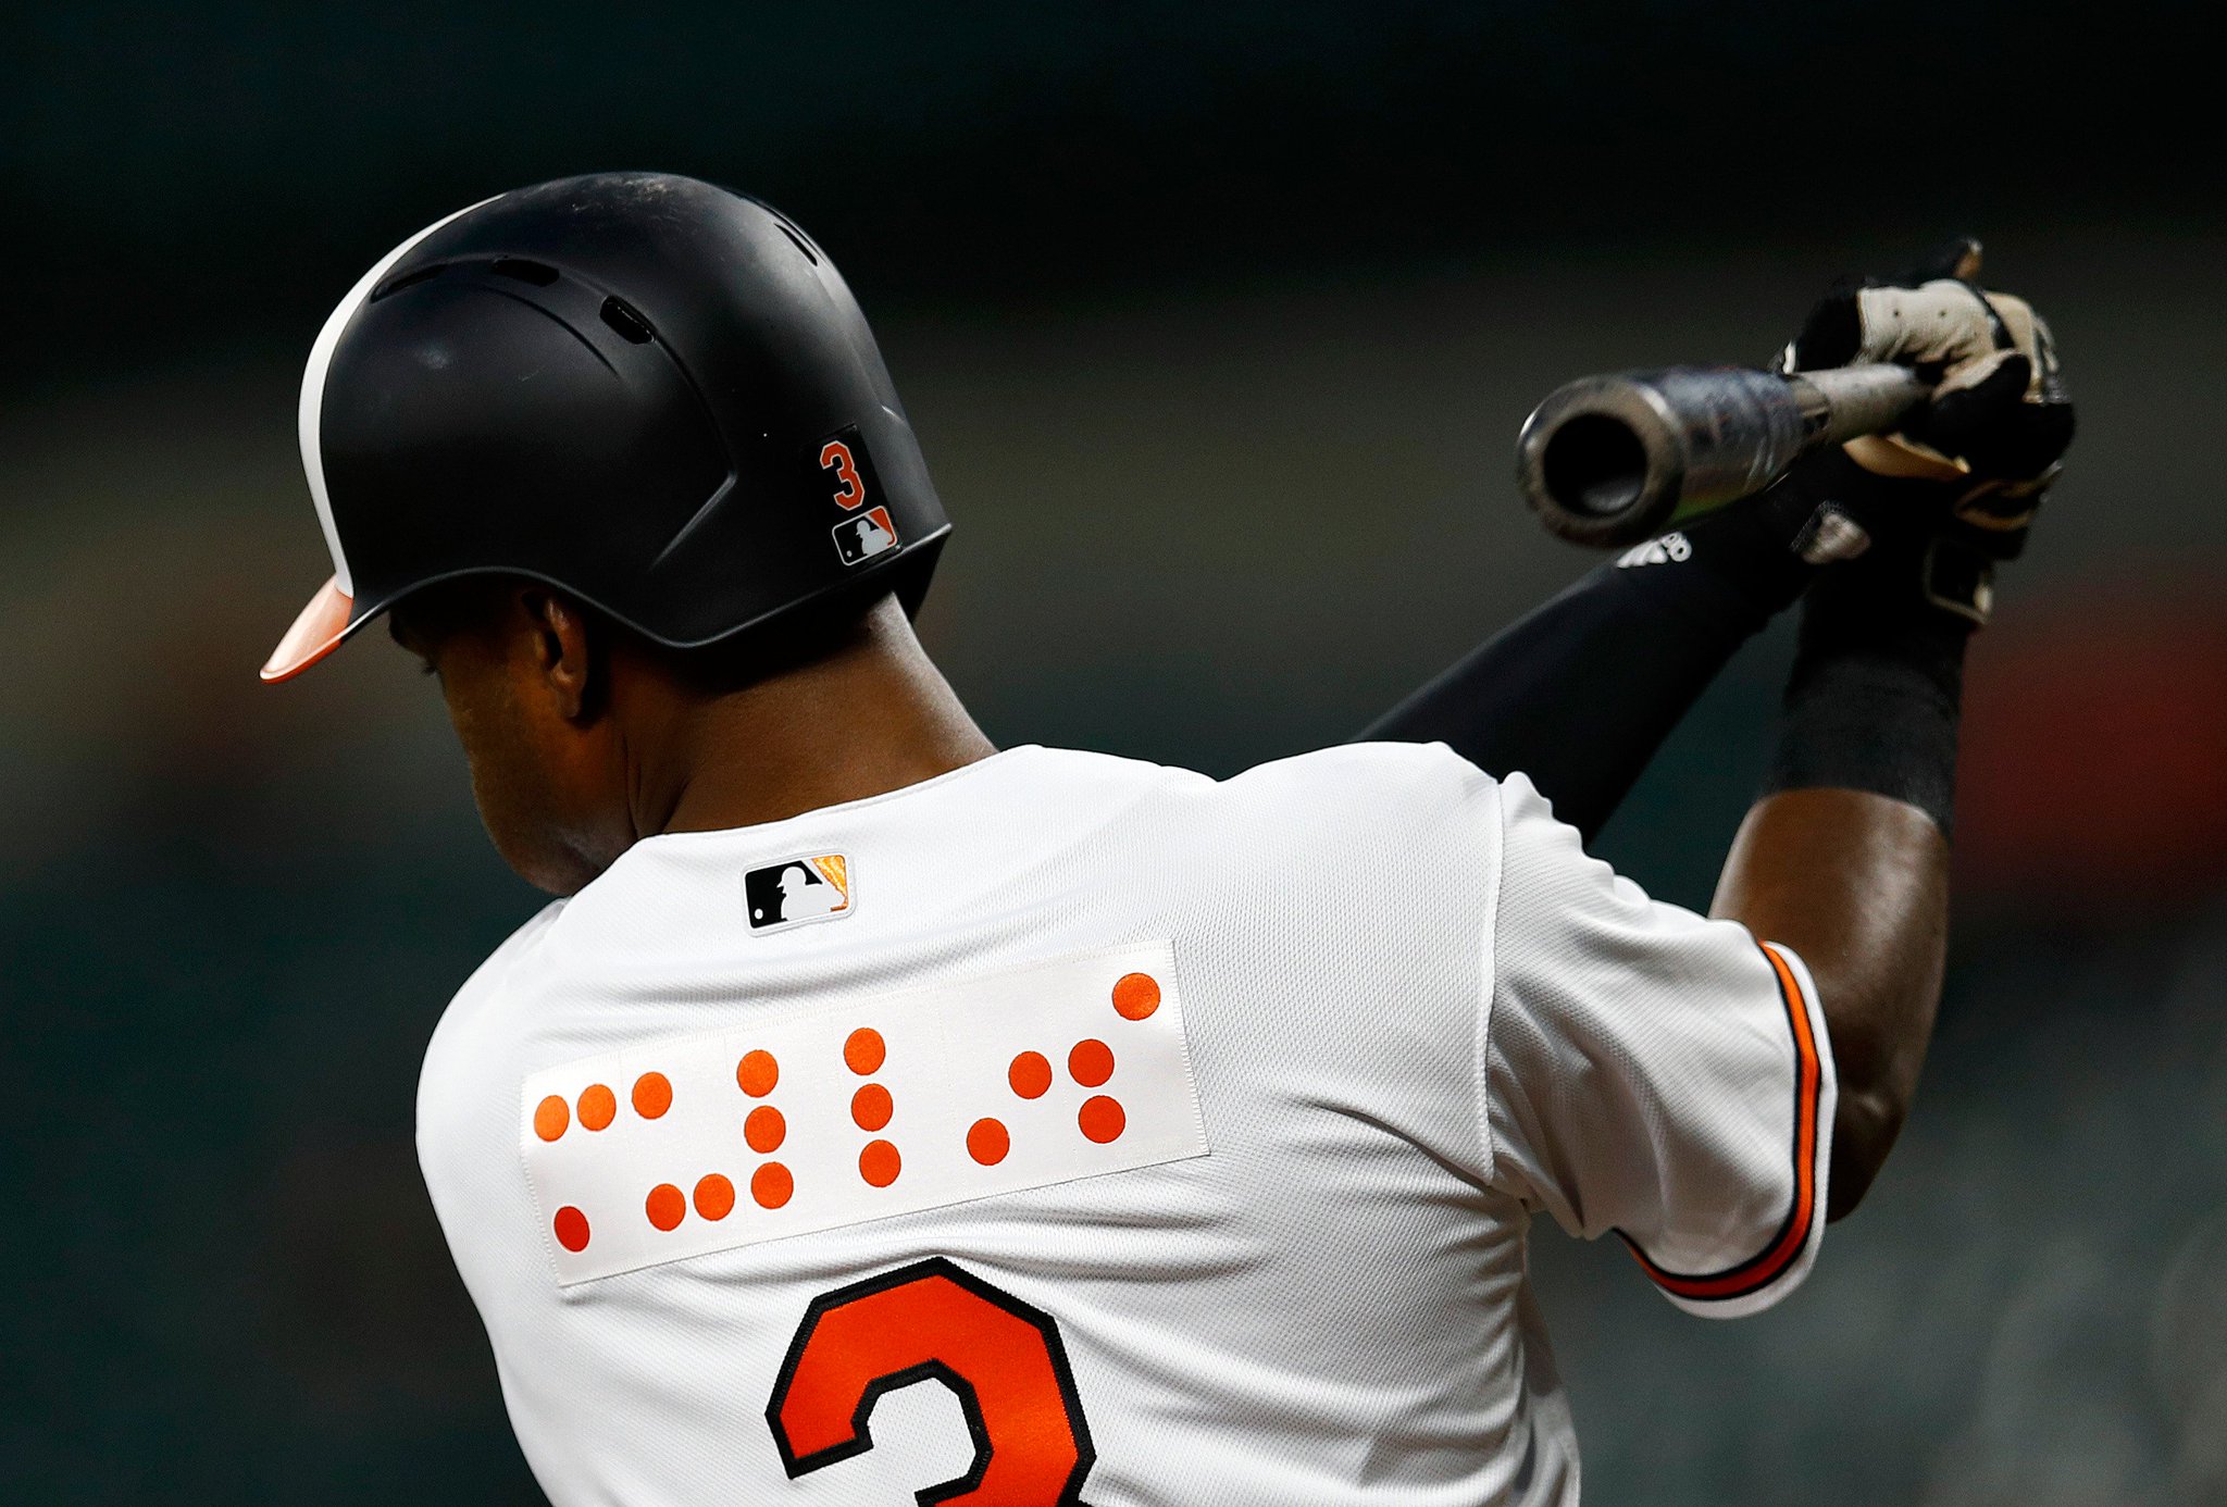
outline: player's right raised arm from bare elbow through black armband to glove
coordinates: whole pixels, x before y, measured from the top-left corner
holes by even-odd
[[[1909,434],[1855,441],[1824,472],[1833,528],[1868,543],[1804,601],[1768,795],[1713,906],[1815,975],[1840,1071],[1831,1218],[1871,1186],[1917,1086],[1949,930],[1964,646],[2071,441],[2047,325],[1964,278],[1842,287],[1788,347],[1795,370],[1940,372]]]

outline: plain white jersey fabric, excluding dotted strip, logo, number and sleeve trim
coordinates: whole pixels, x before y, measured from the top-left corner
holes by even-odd
[[[1795,1182],[1795,1064],[1746,933],[1650,906],[1563,833],[1439,746],[1223,784],[1018,748],[637,844],[465,984],[419,1091],[425,1180],[550,1500],[895,1507],[964,1474],[935,1382],[795,1480],[764,1416],[813,1298],[931,1255],[1058,1322],[1093,1507],[1577,1500],[1530,1211],[1679,1271],[1753,1255]],[[797,853],[844,853],[857,913],[750,935],[739,875]],[[1207,1155],[557,1284],[528,1073],[1140,942],[1174,946]]]

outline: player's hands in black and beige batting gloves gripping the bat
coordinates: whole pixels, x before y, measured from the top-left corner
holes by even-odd
[[[1842,278],[1779,367],[1891,361],[1935,383],[1900,434],[1804,463],[1822,501],[1804,550],[1817,561],[1873,543],[1911,554],[1935,605],[1984,621],[1989,565],[2024,548],[2071,445],[2073,407],[2047,321],[2024,298],[1982,292],[1978,272],[1980,243],[1953,240],[1906,278]]]

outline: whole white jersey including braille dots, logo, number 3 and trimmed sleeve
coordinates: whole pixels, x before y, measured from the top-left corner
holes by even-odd
[[[1521,779],[1016,748],[675,833],[528,922],[419,1155],[557,1507],[1577,1500],[1546,1211],[1759,1309],[1808,977]]]

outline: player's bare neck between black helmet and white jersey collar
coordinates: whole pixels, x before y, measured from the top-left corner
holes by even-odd
[[[670,715],[635,830],[708,833],[902,790],[995,752],[895,601],[811,666]]]

